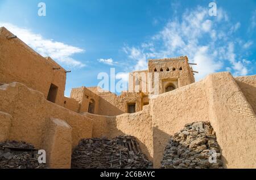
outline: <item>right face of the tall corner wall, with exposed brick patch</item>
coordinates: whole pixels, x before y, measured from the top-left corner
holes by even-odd
[[[209,75],[209,119],[226,168],[256,168],[256,117],[229,72]]]

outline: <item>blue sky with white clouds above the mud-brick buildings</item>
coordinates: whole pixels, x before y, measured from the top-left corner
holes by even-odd
[[[38,16],[38,3],[46,16]],[[217,16],[209,16],[210,2]],[[72,73],[72,87],[96,86],[100,72],[127,80],[148,58],[187,55],[199,71],[256,74],[256,1],[0,0],[5,26],[43,56]]]

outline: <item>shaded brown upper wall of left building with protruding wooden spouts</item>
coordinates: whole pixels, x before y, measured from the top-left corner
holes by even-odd
[[[13,34],[0,28],[0,82],[20,82],[40,91],[47,98],[51,83],[58,89],[56,104],[63,105],[66,73],[51,58],[44,58],[19,38],[7,39]],[[60,70],[53,70],[60,68]]]

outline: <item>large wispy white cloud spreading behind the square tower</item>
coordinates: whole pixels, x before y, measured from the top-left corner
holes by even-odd
[[[217,17],[210,17],[208,9],[197,7],[194,10],[185,10],[181,18],[175,17],[141,46],[129,47],[126,45],[125,53],[133,59],[131,70],[147,68],[147,59],[179,57],[187,55],[190,62],[197,63],[193,67],[199,74],[196,80],[206,75],[220,71],[225,66],[234,75],[246,75],[247,64],[240,61],[235,50],[236,38],[234,32],[241,27],[229,23],[229,17],[222,8],[218,8]],[[230,30],[232,29],[232,30]],[[226,34],[229,33],[229,36]],[[250,46],[245,44],[246,46]]]

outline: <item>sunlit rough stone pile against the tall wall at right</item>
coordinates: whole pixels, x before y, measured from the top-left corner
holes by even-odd
[[[172,136],[161,165],[163,169],[222,168],[220,148],[210,123],[189,123]]]

